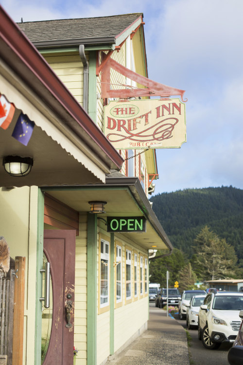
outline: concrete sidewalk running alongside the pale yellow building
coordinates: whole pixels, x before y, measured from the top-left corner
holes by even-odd
[[[189,365],[186,331],[166,311],[150,307],[148,329],[107,365]]]

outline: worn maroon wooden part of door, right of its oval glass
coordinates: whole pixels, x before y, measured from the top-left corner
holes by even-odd
[[[44,230],[52,277],[52,330],[43,365],[73,365],[75,231]]]

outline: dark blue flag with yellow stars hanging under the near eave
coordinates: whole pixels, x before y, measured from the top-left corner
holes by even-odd
[[[17,139],[22,145],[27,146],[31,138],[35,123],[26,114],[20,113],[12,137]]]

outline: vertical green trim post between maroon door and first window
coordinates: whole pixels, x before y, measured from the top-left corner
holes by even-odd
[[[87,365],[97,363],[97,214],[87,213]]]

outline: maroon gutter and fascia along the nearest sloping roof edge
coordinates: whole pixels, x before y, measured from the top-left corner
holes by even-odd
[[[58,116],[60,124],[74,132],[109,168],[121,169],[120,154],[1,6],[0,57]]]

